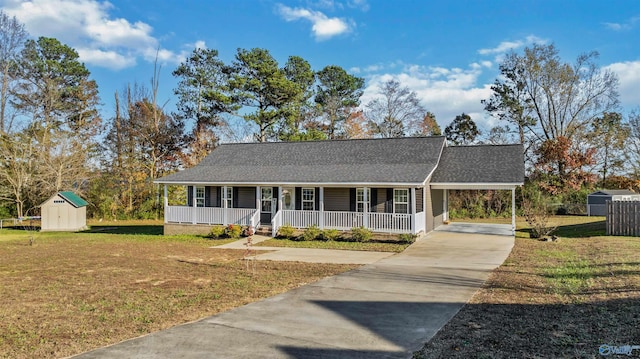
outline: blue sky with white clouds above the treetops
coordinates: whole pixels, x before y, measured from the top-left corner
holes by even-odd
[[[391,78],[415,91],[444,128],[469,113],[481,128],[496,122],[480,100],[491,94],[500,59],[533,43],[560,56],[598,51],[620,78],[621,111],[640,108],[638,0],[0,0],[34,36],[75,48],[97,81],[103,114],[127,83],[150,84],[158,51],[160,103],[171,111],[171,71],[194,49],[268,49],[281,63],[297,55],[315,70],[338,65],[366,79],[363,103]]]

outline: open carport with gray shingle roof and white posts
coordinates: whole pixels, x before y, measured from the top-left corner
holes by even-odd
[[[516,188],[524,184],[523,164],[522,145],[445,148],[430,182],[431,192],[443,191],[442,221],[449,219],[449,190],[511,191],[511,232],[515,235]],[[437,203],[432,205],[435,208]]]

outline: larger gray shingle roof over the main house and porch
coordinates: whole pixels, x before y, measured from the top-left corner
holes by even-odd
[[[223,144],[158,183],[422,183],[444,137]]]

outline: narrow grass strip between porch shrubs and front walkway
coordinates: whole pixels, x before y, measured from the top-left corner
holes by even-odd
[[[351,251],[396,252],[405,250],[409,244],[394,242],[340,242],[340,241],[292,241],[288,239],[267,239],[255,244],[263,247],[340,249]]]

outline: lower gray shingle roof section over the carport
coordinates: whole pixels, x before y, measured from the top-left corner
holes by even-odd
[[[522,145],[446,147],[431,183],[523,183]]]

